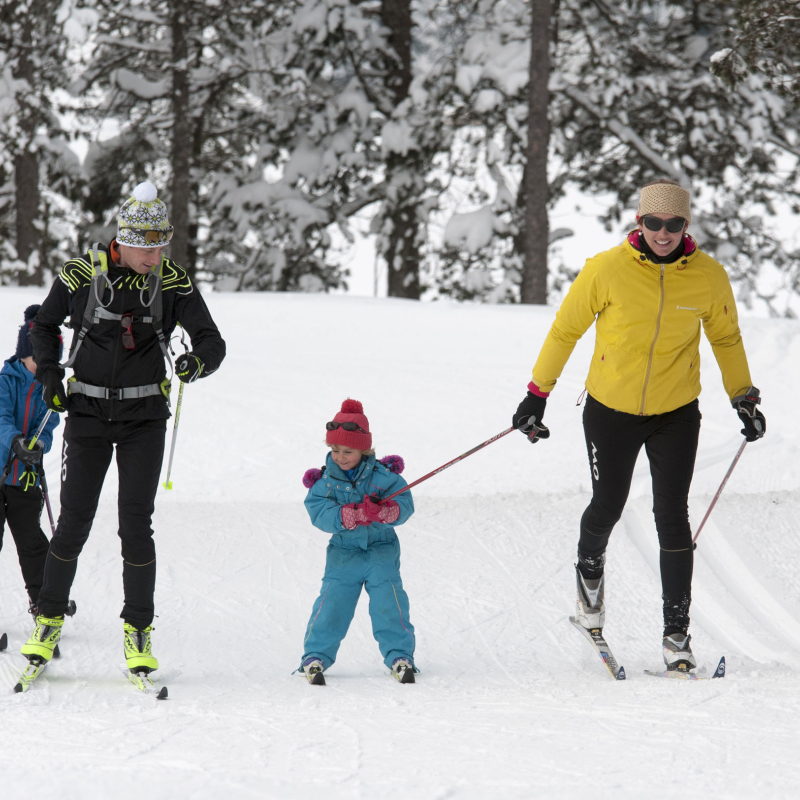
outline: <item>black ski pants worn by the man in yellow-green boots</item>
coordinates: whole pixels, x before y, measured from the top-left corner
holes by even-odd
[[[153,621],[156,549],[151,521],[167,421],[109,422],[70,414],[61,459],[61,513],[50,543],[39,613],[63,615],[89,538],[114,448],[119,472],[119,538],[125,603],[120,616],[139,629]]]

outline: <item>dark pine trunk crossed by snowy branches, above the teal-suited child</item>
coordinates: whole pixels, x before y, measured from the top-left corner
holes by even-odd
[[[396,69],[387,78],[395,107],[407,97],[411,86],[411,0],[383,0],[381,22],[389,29],[389,45],[397,55]],[[420,169],[419,153],[390,153],[386,160],[386,184],[394,190],[387,199],[386,222],[391,230],[383,256],[389,269],[389,297],[419,300],[420,241],[417,203],[417,181]],[[412,176],[411,183],[406,178]]]

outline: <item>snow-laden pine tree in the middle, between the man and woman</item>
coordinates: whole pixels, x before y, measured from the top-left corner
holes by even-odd
[[[424,80],[414,16],[424,5],[305,0],[265,42],[274,82],[260,162],[217,194],[217,219],[250,252],[218,267],[237,285],[340,285],[329,228],[352,239],[350,218],[372,206],[389,294],[420,296],[431,166],[450,136]]]

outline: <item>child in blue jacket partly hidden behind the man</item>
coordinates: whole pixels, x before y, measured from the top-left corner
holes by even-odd
[[[50,419],[28,450],[31,437],[47,413],[42,400],[42,385],[34,378],[30,332],[38,305],[25,309],[25,322],[19,329],[16,353],[0,370],[0,470],[8,477],[0,486],[0,549],[5,523],[17,545],[19,565],[31,608],[35,609],[42,588],[44,562],[50,543],[39,521],[44,500],[39,487],[42,456],[53,444],[53,430],[58,414]]]

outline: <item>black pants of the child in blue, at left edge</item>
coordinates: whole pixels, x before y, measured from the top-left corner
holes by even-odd
[[[5,524],[14,537],[22,578],[32,603],[39,599],[44,577],[44,561],[50,542],[41,528],[44,497],[38,486],[27,491],[21,486],[5,484],[0,489],[0,550],[3,548]]]

